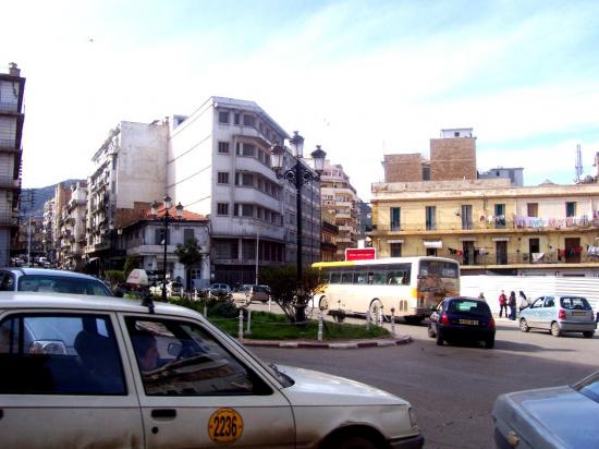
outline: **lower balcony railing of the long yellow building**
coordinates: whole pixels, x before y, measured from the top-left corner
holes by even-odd
[[[438,256],[457,260],[462,267],[484,267],[488,265],[530,265],[533,267],[540,264],[599,264],[599,257],[589,254],[563,256],[558,253],[489,253],[477,255],[439,253]]]

